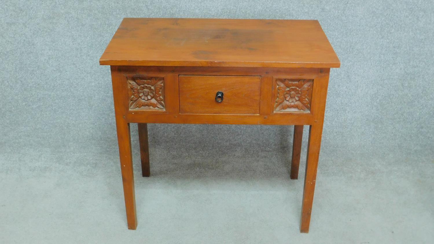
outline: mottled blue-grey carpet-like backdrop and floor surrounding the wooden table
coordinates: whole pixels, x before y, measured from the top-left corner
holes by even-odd
[[[433,243],[433,13],[432,0],[3,0],[0,244]],[[98,63],[124,17],[319,20],[342,65],[309,234],[307,127],[290,180],[293,127],[277,126],[151,124],[142,178],[133,125],[138,228],[127,230]]]

